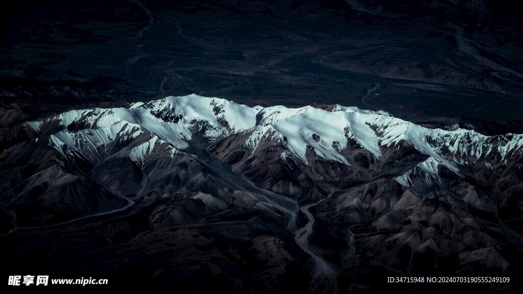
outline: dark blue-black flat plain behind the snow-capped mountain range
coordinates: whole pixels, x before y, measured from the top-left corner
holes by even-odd
[[[417,121],[521,119],[519,1],[14,5],[3,12],[6,108],[196,93],[249,105],[354,105]]]

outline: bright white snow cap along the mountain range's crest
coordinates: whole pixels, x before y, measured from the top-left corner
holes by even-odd
[[[127,108],[93,108],[72,110],[43,121],[27,122],[28,129],[44,132],[47,123],[59,121],[63,131],[52,134],[50,143],[63,153],[63,147],[92,159],[103,152],[103,146],[117,138],[136,138],[149,133],[155,140],[167,142],[173,150],[186,149],[195,133],[203,134],[210,143],[233,134],[248,133],[242,143],[254,154],[261,143],[279,143],[285,148],[283,158],[292,157],[307,164],[306,150],[312,148],[325,160],[350,165],[343,150],[349,140],[381,157],[382,148],[391,148],[406,141],[430,156],[419,168],[430,177],[437,175],[441,164],[459,174],[460,165],[479,159],[503,161],[515,152],[521,153],[523,135],[485,136],[474,130],[428,129],[395,118],[384,111],[362,110],[334,105],[331,111],[305,106],[287,108],[273,106],[248,107],[220,98],[198,95],[167,97],[134,103]],[[81,130],[75,130],[77,126]],[[65,131],[65,129],[72,129]],[[140,162],[153,152],[158,142],[131,151],[131,158]],[[262,144],[266,146],[266,144]],[[435,168],[436,167],[436,168]],[[436,173],[434,173],[434,170]]]

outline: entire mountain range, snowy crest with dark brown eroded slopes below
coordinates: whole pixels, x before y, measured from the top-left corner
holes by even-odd
[[[31,252],[34,268],[139,269],[162,288],[232,292],[520,271],[520,134],[190,95],[72,110],[3,136],[23,138],[0,154],[3,257]]]

